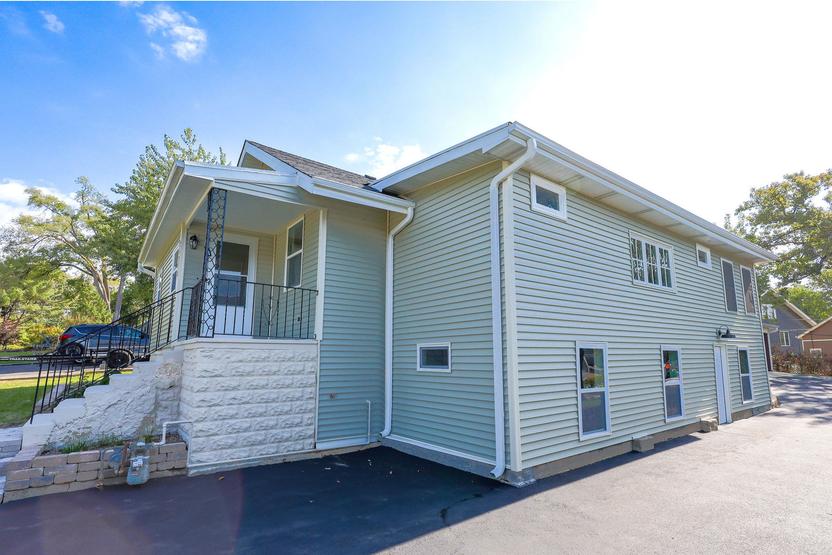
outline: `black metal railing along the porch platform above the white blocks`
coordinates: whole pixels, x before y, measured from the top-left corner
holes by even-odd
[[[188,337],[314,339],[317,290],[256,283],[243,276],[215,277],[214,283],[215,291],[205,290],[206,280],[192,288]],[[210,303],[206,295],[211,295]]]

